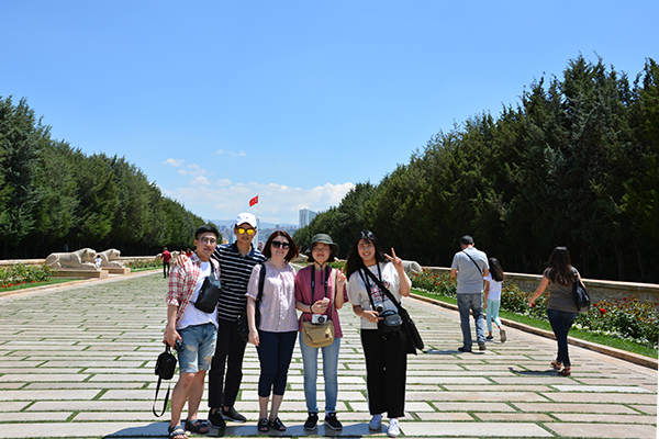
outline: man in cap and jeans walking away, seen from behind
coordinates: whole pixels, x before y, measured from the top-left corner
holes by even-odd
[[[460,327],[462,328],[462,347],[460,352],[471,352],[471,326],[469,312],[476,323],[476,340],[479,350],[487,350],[485,328],[483,318],[483,277],[490,273],[488,256],[477,250],[473,238],[465,235],[460,238],[461,251],[454,256],[450,266],[450,277],[458,281],[458,312],[460,313]]]

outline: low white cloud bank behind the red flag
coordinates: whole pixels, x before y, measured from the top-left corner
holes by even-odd
[[[263,222],[298,224],[299,211],[326,211],[340,203],[355,184],[326,183],[315,188],[291,188],[284,184],[255,182],[232,183],[230,180],[211,181],[198,176],[190,187],[164,191],[206,219],[231,219],[239,212],[258,214]],[[249,207],[249,200],[258,195],[258,204]]]

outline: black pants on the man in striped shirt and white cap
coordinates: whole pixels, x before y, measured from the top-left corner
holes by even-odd
[[[219,319],[215,357],[209,371],[209,407],[233,407],[243,381],[243,357],[247,342],[238,335],[237,322]],[[224,367],[226,365],[226,376]]]

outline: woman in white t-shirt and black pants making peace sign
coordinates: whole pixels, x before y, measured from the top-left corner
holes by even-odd
[[[396,302],[410,295],[412,283],[403,270],[403,261],[386,255],[372,232],[357,235],[346,261],[348,297],[353,311],[361,317],[361,346],[366,358],[368,406],[372,419],[369,429],[382,428],[382,414],[389,416],[389,437],[400,435],[399,417],[405,415],[405,376],[407,370],[406,336],[402,327],[382,330],[378,323],[388,311],[398,313],[396,305],[381,286],[389,290]],[[380,286],[381,285],[381,286]]]

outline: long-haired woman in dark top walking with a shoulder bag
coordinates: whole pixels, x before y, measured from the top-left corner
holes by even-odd
[[[549,267],[543,273],[540,285],[528,300],[528,306],[533,306],[549,286],[547,317],[558,344],[558,354],[556,361],[551,361],[551,367],[562,376],[572,374],[568,354],[568,333],[579,313],[572,297],[572,284],[577,279],[581,281],[579,271],[570,262],[570,252],[566,247],[556,247],[549,257]]]

